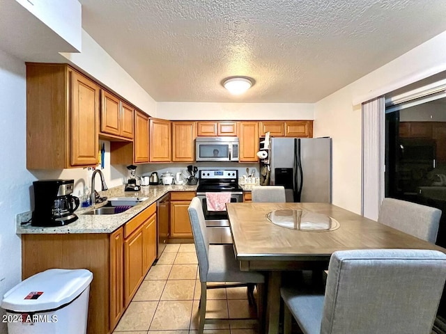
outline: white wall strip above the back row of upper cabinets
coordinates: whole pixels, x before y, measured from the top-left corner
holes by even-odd
[[[313,120],[310,103],[158,102],[167,120]]]

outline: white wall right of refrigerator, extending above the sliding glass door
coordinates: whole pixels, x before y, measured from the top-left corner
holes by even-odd
[[[361,212],[360,103],[446,70],[445,54],[446,31],[315,104],[314,136],[333,138],[334,205]]]

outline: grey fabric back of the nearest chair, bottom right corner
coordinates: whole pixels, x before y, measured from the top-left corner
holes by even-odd
[[[430,334],[446,277],[436,250],[344,250],[328,267],[321,334]]]

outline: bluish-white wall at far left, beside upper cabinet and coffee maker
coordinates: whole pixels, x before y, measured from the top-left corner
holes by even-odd
[[[20,237],[15,234],[15,215],[29,210],[29,190],[35,180],[25,168],[25,97],[24,62],[0,51],[0,299],[22,277],[22,250]],[[2,321],[0,333],[6,333]]]

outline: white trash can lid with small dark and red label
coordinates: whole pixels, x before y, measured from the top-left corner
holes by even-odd
[[[36,273],[3,296],[1,308],[15,312],[42,312],[70,303],[93,280],[87,269],[48,269]]]

